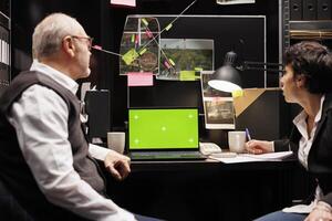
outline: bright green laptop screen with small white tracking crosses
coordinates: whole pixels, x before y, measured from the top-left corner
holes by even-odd
[[[129,109],[129,149],[198,148],[198,109]]]

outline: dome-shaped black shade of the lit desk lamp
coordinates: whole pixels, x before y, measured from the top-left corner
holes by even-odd
[[[215,90],[231,93],[241,90],[241,77],[232,65],[226,64],[212,74],[208,85]]]

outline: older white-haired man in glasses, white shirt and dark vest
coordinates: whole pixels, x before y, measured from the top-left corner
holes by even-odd
[[[90,75],[91,43],[63,13],[35,27],[35,61],[0,99],[0,178],[34,220],[154,220],[107,199],[94,158],[118,180],[129,158],[89,145],[82,130],[75,80]]]

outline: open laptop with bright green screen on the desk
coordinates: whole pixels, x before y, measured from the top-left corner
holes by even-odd
[[[128,110],[132,160],[205,159],[199,152],[197,108]]]

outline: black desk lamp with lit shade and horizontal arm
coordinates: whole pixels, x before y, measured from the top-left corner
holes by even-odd
[[[224,60],[224,65],[216,70],[212,74],[208,85],[215,90],[231,93],[234,91],[241,90],[241,77],[239,71],[257,70],[257,71],[271,71],[283,72],[283,69],[277,69],[282,66],[279,63],[264,63],[264,62],[248,62],[245,61],[242,65],[235,66],[237,54],[234,51],[227,52]],[[268,69],[267,66],[276,66],[274,69]]]

